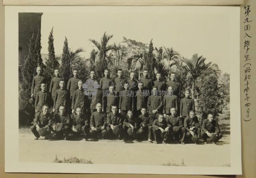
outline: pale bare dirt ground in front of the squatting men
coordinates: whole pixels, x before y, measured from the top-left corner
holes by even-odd
[[[19,134],[21,162],[52,162],[76,156],[94,164],[161,165],[174,162],[186,166],[229,166],[230,142],[205,144],[152,144],[148,141],[122,140],[34,140],[28,133]]]

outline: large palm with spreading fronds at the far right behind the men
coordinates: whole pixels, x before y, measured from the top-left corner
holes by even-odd
[[[205,57],[193,54],[191,59],[181,57],[181,65],[187,75],[188,86],[191,88],[192,98],[194,99],[195,81],[204,71],[209,71],[218,75],[219,69],[212,65],[212,62],[205,63]]]

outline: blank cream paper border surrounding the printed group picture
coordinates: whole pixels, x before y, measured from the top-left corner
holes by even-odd
[[[118,8],[119,12],[131,12],[140,10],[140,13],[148,12],[147,7],[40,7],[40,6],[6,6],[5,9],[5,171],[6,172],[52,172],[52,173],[116,173],[116,174],[242,174],[241,166],[241,133],[240,133],[240,78],[239,71],[239,22],[240,7],[148,7],[150,13],[156,12],[190,12],[190,13],[222,13],[230,18],[230,41],[227,42],[226,66],[230,66],[230,166],[139,166],[120,164],[58,164],[46,162],[20,162],[18,141],[18,12],[111,12]],[[152,12],[154,9],[154,12]],[[184,10],[186,9],[186,10]],[[204,16],[202,16],[204,17]],[[168,19],[166,19],[168,20]],[[164,22],[166,22],[166,20]],[[42,27],[44,28],[44,27]],[[219,28],[223,28],[220,26]],[[221,32],[220,32],[221,34]],[[207,43],[211,48],[211,43]],[[15,47],[16,46],[16,47]],[[216,45],[215,45],[216,46]],[[212,49],[214,50],[214,49]],[[16,109],[14,109],[16,108]],[[8,129],[17,128],[17,129]],[[199,146],[199,145],[198,145]],[[202,145],[203,146],[203,145]],[[33,155],[28,155],[33,156]]]

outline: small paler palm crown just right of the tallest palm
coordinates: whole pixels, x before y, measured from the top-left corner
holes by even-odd
[[[127,52],[128,49],[126,46],[114,43],[114,49],[111,51],[112,53],[110,54],[112,58],[115,60],[115,65],[119,66],[119,62],[122,59],[125,59],[127,57]]]

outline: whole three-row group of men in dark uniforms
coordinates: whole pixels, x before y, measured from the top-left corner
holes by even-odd
[[[155,81],[149,79],[146,69],[139,81],[134,72],[124,79],[122,69],[118,69],[118,77],[110,79],[110,71],[106,69],[105,77],[98,81],[92,70],[84,83],[78,70],[73,69],[74,77],[66,86],[60,71],[55,69],[48,91],[41,67],[36,71],[31,88],[36,112],[31,131],[36,139],[40,136],[49,139],[53,134],[65,140],[83,135],[85,140],[148,139],[155,144],[171,140],[185,144],[190,140],[198,144],[199,138],[204,143],[207,138],[216,143],[222,137],[212,114],[202,123],[198,121],[189,90],[181,99],[175,73],[171,73],[171,80],[166,83],[161,73],[156,73]]]

